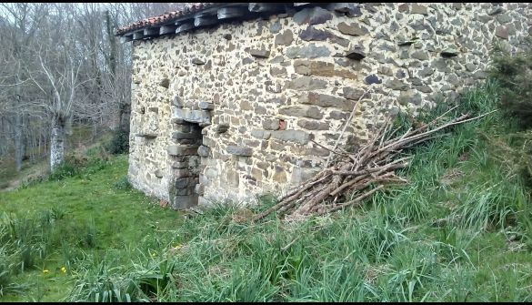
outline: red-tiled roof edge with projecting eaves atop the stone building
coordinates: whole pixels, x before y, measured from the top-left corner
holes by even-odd
[[[316,5],[346,14],[356,9],[357,6],[355,3],[196,3],[179,11],[149,17],[131,25],[120,27],[116,30],[115,36],[122,36],[123,42],[154,38],[167,34],[184,33],[226,21],[294,12],[304,7]]]

